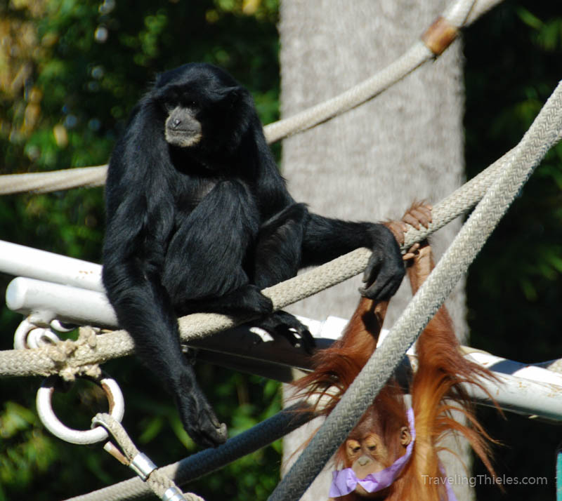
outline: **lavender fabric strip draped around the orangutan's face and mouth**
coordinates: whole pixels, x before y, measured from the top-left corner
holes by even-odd
[[[380,472],[371,473],[365,476],[365,479],[358,479],[351,468],[339,469],[332,472],[332,486],[329,488],[330,497],[339,497],[352,493],[359,484],[368,493],[374,493],[377,490],[387,488],[393,483],[396,477],[402,472],[405,464],[412,456],[412,449],[414,448],[414,441],[416,439],[416,429],[414,426],[414,410],[412,408],[407,410],[408,426],[410,427],[410,435],[412,440],[406,447],[406,453],[392,463],[388,468]]]

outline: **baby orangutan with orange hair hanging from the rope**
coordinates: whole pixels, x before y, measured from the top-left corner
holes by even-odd
[[[402,221],[387,223],[398,243],[404,241],[405,222],[427,227],[431,207],[414,205]],[[404,258],[415,294],[433,269],[431,247],[417,243]],[[342,338],[317,352],[313,373],[295,383],[301,395],[318,397],[321,415],[332,411],[374,352],[387,306],[362,298]],[[452,432],[469,441],[493,475],[486,442],[490,437],[476,421],[464,387],[468,383],[483,389],[478,377],[492,375],[459,352],[445,306],[421,333],[416,354],[418,368],[409,391],[412,408],[405,404],[406,392],[389,380],[336,452],[336,467],[341,469],[333,472],[330,500],[455,501],[438,458],[441,439]],[[453,420],[452,410],[464,414],[471,427]]]

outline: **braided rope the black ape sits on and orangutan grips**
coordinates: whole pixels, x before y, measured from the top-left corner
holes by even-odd
[[[560,139],[560,135],[558,135]],[[482,199],[492,180],[499,171],[509,164],[515,149],[492,163],[485,171],[466,182],[455,192],[433,207],[433,222],[428,229],[410,229],[405,234],[403,250],[410,248],[451,220],[471,209]],[[273,301],[275,309],[320,292],[336,283],[361,273],[369,260],[370,250],[360,248],[343,255],[325,265],[295,276],[282,283],[263,290]],[[226,328],[232,328],[249,319],[234,319],[219,314],[192,314],[178,319],[181,340],[189,342]],[[70,343],[71,341],[67,341]],[[0,376],[51,375],[60,370],[74,370],[84,365],[104,363],[119,356],[133,354],[134,342],[124,330],[96,336],[96,345],[83,344],[68,349],[67,356],[61,356],[57,346],[37,349],[15,349],[0,351]]]

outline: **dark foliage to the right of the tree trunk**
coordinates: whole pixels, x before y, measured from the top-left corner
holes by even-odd
[[[466,31],[467,175],[521,140],[556,87],[562,15],[550,1],[504,2]],[[471,267],[467,281],[471,344],[518,361],[561,356],[562,145],[547,154]],[[478,486],[478,499],[554,497],[558,429],[481,410],[496,449],[497,472],[547,476],[548,486]],[[477,465],[474,474],[484,474]]]

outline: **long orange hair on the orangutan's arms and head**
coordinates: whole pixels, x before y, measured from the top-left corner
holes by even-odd
[[[426,260],[425,271],[423,266],[418,267],[422,259]],[[433,268],[429,246],[422,247],[413,261],[414,265],[408,268],[408,275],[412,292],[415,293]],[[319,398],[316,400],[316,410],[320,415],[332,411],[374,352],[387,306],[388,302],[362,298],[342,338],[315,354],[314,371],[294,383],[301,396],[322,397],[322,401]],[[410,383],[416,439],[410,461],[391,486],[380,493],[384,496],[381,499],[388,501],[447,500],[445,471],[440,465],[438,452],[443,450],[440,446],[443,436],[452,432],[464,436],[490,474],[495,474],[488,446],[492,439],[476,420],[464,387],[468,383],[485,391],[478,378],[493,376],[489,370],[462,356],[452,321],[444,306],[421,333],[416,353],[418,368]],[[396,380],[389,380],[350,437],[370,427],[372,432],[381,436],[389,455],[393,456],[388,458],[389,462],[403,455],[405,449],[400,445],[399,430],[407,426],[404,396],[405,392]],[[469,425],[455,421],[452,410],[462,413]],[[336,452],[335,461],[336,467],[351,467],[347,464],[345,443]],[[360,499],[362,497],[355,492],[338,497],[338,500],[346,501]]]

